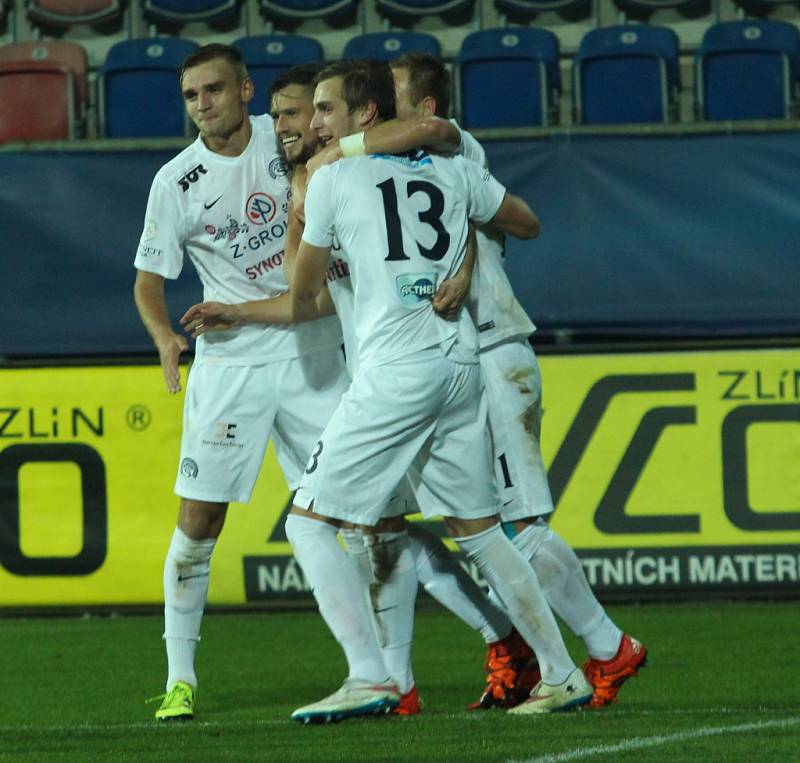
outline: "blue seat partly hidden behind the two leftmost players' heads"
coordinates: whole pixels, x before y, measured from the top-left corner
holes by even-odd
[[[233,43],[242,52],[247,71],[255,85],[251,114],[269,111],[269,89],[273,80],[297,64],[323,60],[322,46],[312,37],[299,34],[265,34],[240,37]]]

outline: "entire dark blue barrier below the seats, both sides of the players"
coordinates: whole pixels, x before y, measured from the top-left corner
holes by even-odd
[[[490,142],[542,220],[508,272],[543,334],[800,334],[800,134]],[[149,352],[133,256],[176,151],[0,153],[0,355]],[[175,318],[201,297],[191,265]]]

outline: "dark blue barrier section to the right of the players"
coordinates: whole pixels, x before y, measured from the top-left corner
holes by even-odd
[[[800,334],[800,134],[487,144],[542,221],[507,269],[544,333]]]

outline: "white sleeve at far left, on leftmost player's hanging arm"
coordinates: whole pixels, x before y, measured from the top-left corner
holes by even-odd
[[[181,213],[174,192],[158,177],[150,188],[144,230],[134,266],[164,278],[177,278],[183,268]]]

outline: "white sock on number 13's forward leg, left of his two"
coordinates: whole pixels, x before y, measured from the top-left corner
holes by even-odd
[[[311,586],[319,611],[344,650],[350,678],[381,682],[389,678],[353,565],[336,540],[336,528],[290,514],[286,537]]]

